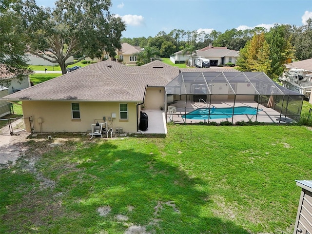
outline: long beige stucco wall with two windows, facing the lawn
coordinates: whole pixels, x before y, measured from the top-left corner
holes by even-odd
[[[80,119],[72,119],[71,103],[79,103]],[[117,102],[23,101],[22,108],[24,117],[32,117],[37,133],[40,132],[39,118],[42,119],[42,132],[48,133],[91,131],[91,124],[104,122],[103,117],[114,131],[123,128],[123,132],[137,132],[137,103],[127,104],[127,120],[119,119]],[[112,113],[116,113],[116,118],[112,118]],[[29,123],[25,124],[26,131],[30,132]]]

